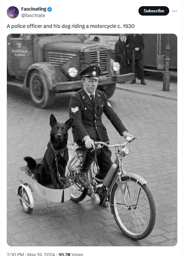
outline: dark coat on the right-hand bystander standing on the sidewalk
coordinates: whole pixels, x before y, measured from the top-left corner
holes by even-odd
[[[126,44],[128,45],[127,58],[132,59],[132,51],[138,47],[140,50],[135,51],[135,59],[142,59],[142,50],[144,49],[144,39],[140,34],[135,36],[129,35],[126,38]]]

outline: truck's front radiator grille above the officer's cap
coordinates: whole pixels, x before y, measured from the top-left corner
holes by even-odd
[[[107,72],[107,51],[91,50],[90,63],[93,65],[98,65],[101,68],[102,73],[106,73]]]

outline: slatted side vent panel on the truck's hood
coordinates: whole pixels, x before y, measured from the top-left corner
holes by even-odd
[[[48,62],[53,64],[56,67],[62,66],[64,63],[70,61],[76,56],[76,54],[71,53],[58,53],[49,51],[48,52]]]

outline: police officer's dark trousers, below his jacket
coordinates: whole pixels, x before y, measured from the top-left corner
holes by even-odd
[[[88,149],[85,157],[85,161],[83,163],[83,171],[88,171],[93,160],[95,159],[95,155],[97,158],[97,164],[99,166],[100,172],[96,175],[98,179],[104,179],[111,165],[113,164],[111,161],[111,150],[107,146],[103,146],[100,149],[92,150]]]

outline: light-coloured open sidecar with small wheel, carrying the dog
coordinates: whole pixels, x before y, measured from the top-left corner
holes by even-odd
[[[42,158],[37,158],[36,162],[39,164]],[[18,197],[20,198],[20,204],[22,209],[26,213],[32,212],[34,208],[34,198],[33,192],[36,191],[37,194],[51,202],[66,202],[71,199],[71,184],[64,189],[53,189],[49,186],[42,186],[34,178],[34,175],[30,173],[28,166],[23,166],[18,168],[17,179],[22,182],[18,187]]]

